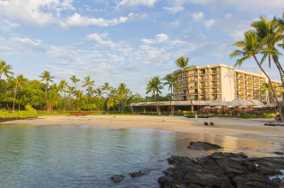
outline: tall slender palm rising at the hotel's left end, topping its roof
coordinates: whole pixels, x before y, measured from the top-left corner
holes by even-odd
[[[185,58],[185,57],[181,56],[178,59],[176,59],[176,65],[181,68],[181,72],[182,72],[182,93],[183,94],[184,94],[184,90],[185,90],[184,100],[186,99],[186,97],[189,98],[190,104],[192,106],[192,111],[194,111],[194,104],[193,104],[192,98],[190,98],[189,93],[188,93],[187,76],[185,76],[186,80],[185,80],[185,88],[184,88],[184,73],[185,73],[185,68],[188,64],[188,60],[189,60],[189,57]]]

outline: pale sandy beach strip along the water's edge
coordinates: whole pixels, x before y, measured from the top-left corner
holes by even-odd
[[[204,126],[204,122],[214,122],[214,126]],[[182,116],[134,116],[134,115],[90,115],[90,116],[39,116],[33,120],[17,120],[1,124],[29,125],[88,125],[108,128],[156,129],[168,132],[204,133],[232,136],[261,141],[276,141],[284,144],[284,127],[264,126],[272,119],[239,118],[199,118]]]

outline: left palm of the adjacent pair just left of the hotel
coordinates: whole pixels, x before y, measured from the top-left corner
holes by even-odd
[[[159,110],[159,106],[157,103],[157,94],[162,93],[160,90],[163,89],[162,87],[162,82],[159,79],[159,76],[155,76],[153,78],[151,78],[151,81],[149,81],[149,83],[147,84],[147,88],[146,88],[146,94],[153,92],[154,98],[155,98],[155,104],[156,104],[156,109],[157,109],[157,113],[160,115],[160,110]]]

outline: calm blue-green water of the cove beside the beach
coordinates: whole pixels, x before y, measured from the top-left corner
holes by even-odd
[[[0,187],[159,187],[172,155],[201,157],[189,141],[210,141],[219,151],[272,156],[283,145],[205,134],[89,126],[0,125]],[[131,172],[148,169],[132,178]],[[112,175],[125,175],[120,184]]]

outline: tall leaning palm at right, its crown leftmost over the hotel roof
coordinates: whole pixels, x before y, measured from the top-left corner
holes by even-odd
[[[264,73],[264,75],[268,79],[268,82],[269,82],[270,87],[271,87],[272,94],[273,94],[273,96],[276,100],[276,103],[277,103],[278,111],[280,113],[281,122],[284,122],[280,102],[279,102],[279,99],[277,98],[276,92],[273,88],[271,78],[264,71],[264,69],[262,68],[262,64],[258,61],[258,59],[256,57],[256,55],[263,55],[263,56],[268,56],[269,54],[272,55],[272,56],[278,55],[278,52],[273,51],[273,50],[269,49],[268,47],[265,47],[265,45],[263,45],[263,43],[262,43],[262,40],[257,36],[257,34],[254,30],[246,31],[245,32],[245,39],[242,40],[242,41],[236,42],[235,46],[241,48],[240,50],[235,50],[234,52],[232,52],[230,54],[231,58],[235,57],[235,56],[241,56],[240,59],[237,59],[237,63],[235,64],[235,66],[237,66],[237,65],[241,66],[245,62],[245,60],[248,60],[251,57],[254,57],[254,61],[256,62],[258,67],[262,70],[262,73]]]

